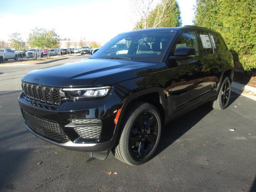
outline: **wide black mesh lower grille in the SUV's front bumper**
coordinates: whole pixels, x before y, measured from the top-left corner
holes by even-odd
[[[70,140],[59,124],[37,118],[25,111],[23,111],[23,116],[26,124],[36,133],[61,143]]]

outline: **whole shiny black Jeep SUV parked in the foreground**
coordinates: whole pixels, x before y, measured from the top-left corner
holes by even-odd
[[[219,33],[196,26],[122,33],[88,60],[29,72],[19,105],[28,130],[70,149],[139,165],[164,124],[209,102],[224,109],[233,59]]]

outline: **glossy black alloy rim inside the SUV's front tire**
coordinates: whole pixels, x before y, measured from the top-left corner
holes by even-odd
[[[144,158],[156,144],[158,123],[151,112],[140,114],[130,132],[130,152],[134,158]]]

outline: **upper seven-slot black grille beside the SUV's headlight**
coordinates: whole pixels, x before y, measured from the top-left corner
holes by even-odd
[[[22,82],[22,90],[24,95],[32,100],[33,104],[36,102],[36,105],[39,107],[45,108],[44,105],[60,105],[60,88],[52,88]]]

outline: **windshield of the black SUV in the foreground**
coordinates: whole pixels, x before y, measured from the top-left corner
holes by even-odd
[[[160,62],[175,31],[130,32],[116,36],[90,58]]]

